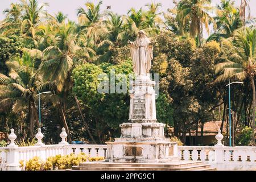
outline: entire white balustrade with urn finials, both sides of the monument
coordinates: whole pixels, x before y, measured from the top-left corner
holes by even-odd
[[[104,156],[108,150],[104,144],[68,144],[65,142],[65,130],[62,131],[59,144],[44,145],[42,143],[43,134],[38,132],[38,144],[36,146],[18,147],[14,140],[16,135],[11,130],[7,147],[0,147],[0,170],[20,170],[19,161],[26,162],[35,156],[40,156],[46,160],[50,156],[69,155],[85,153],[90,157]],[[228,169],[256,169],[256,147],[226,147],[221,143],[222,136],[216,135],[218,143],[216,146],[178,146],[177,157],[180,160],[201,161],[216,167],[219,170]]]

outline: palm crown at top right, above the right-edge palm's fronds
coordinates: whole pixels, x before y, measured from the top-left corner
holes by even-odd
[[[216,8],[217,16],[214,17],[216,32],[210,35],[207,41],[217,40],[220,42],[221,38],[233,36],[234,31],[242,27],[242,21],[238,9],[234,7],[234,1],[222,0]]]

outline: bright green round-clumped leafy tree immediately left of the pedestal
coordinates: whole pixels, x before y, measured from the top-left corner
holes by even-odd
[[[129,74],[133,75],[131,61],[124,61],[121,64],[112,65],[103,63],[100,65],[83,64],[76,67],[72,72],[75,82],[73,92],[81,100],[81,104],[89,111],[89,115],[94,120],[96,133],[101,133],[102,140],[106,140],[105,135],[118,135],[120,123],[128,120],[129,96],[127,93],[110,93],[110,75],[115,73],[115,84],[125,83],[129,90]],[[102,77],[98,77],[102,75]],[[118,77],[124,74],[124,77]],[[98,85],[104,81],[105,93],[98,92]],[[125,82],[126,81],[126,82]],[[112,88],[113,89],[113,88]],[[95,129],[94,128],[94,129]],[[92,127],[92,130],[94,130]],[[101,141],[100,141],[101,142]]]

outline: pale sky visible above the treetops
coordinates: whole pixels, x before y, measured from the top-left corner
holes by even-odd
[[[68,18],[77,21],[77,9],[79,7],[85,8],[86,0],[38,0],[39,2],[47,2],[49,6],[47,11],[50,14],[55,14],[58,11],[63,12],[68,15]],[[91,2],[97,3],[99,0],[90,0]],[[13,2],[19,2],[19,0],[0,0],[0,21],[5,17],[3,15],[3,10],[10,7]],[[106,6],[111,6],[111,10],[114,13],[123,15],[127,14],[127,11],[134,7],[136,10],[139,8],[145,9],[144,5],[151,3],[152,0],[103,0],[101,5],[101,10],[105,10]],[[174,7],[172,0],[153,0],[153,2],[162,3],[161,10],[166,11],[168,8]],[[213,5],[219,3],[220,0],[212,0]],[[235,0],[236,5],[239,6],[241,0]],[[249,2],[251,8],[251,16],[256,17],[256,1],[250,0]]]

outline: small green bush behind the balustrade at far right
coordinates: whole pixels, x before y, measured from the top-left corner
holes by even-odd
[[[253,129],[246,126],[242,129],[241,133],[237,135],[236,144],[237,146],[251,146],[251,137],[253,136]]]

